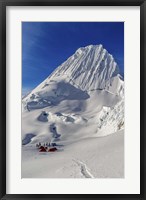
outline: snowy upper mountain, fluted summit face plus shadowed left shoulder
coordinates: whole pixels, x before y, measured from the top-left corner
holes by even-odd
[[[122,97],[124,82],[113,56],[101,44],[88,45],[80,47],[23,102],[31,107],[46,107],[63,100],[88,99],[90,91],[101,90]]]

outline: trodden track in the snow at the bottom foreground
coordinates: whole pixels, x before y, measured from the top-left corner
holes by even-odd
[[[74,162],[76,162],[78,164],[78,166],[80,167],[81,170],[81,174],[85,177],[85,178],[94,178],[94,176],[91,174],[91,172],[89,171],[89,168],[87,167],[87,165],[77,159],[73,159]]]

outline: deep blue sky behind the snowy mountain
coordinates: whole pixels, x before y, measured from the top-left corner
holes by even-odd
[[[35,88],[79,47],[90,44],[102,44],[123,74],[123,22],[23,22],[22,93]]]

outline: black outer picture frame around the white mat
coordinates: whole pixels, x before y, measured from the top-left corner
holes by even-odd
[[[140,6],[140,194],[6,194],[6,7]],[[146,0],[0,0],[0,199],[146,200]]]

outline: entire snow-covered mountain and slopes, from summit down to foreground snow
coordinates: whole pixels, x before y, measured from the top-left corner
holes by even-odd
[[[102,45],[79,48],[22,108],[22,177],[124,176],[124,81]],[[40,155],[39,142],[59,151]]]

